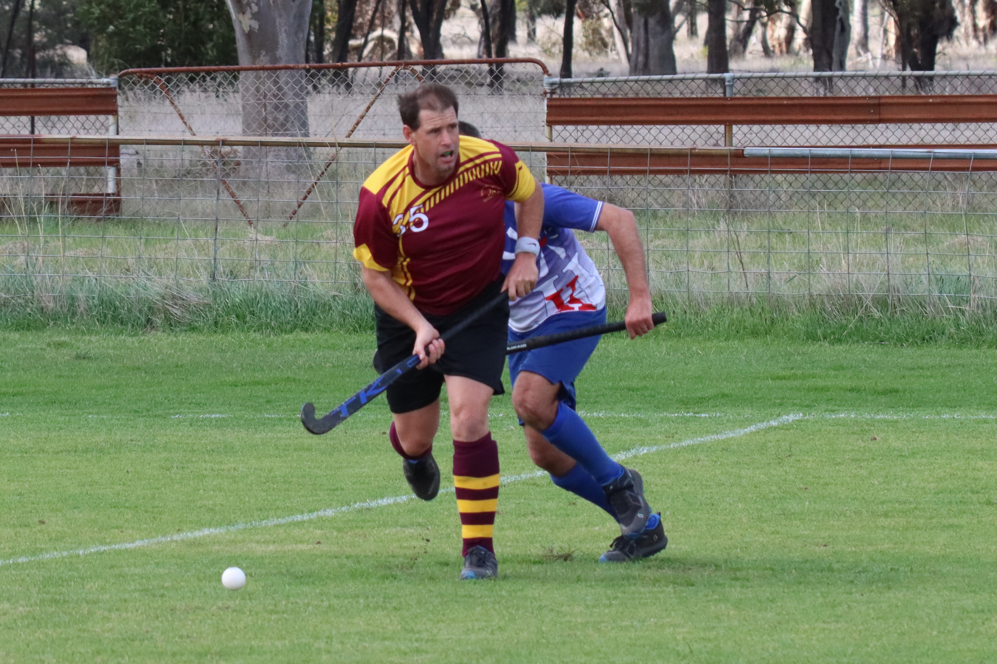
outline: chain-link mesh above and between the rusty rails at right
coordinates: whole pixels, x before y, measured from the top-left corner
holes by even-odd
[[[661,77],[546,78],[551,100],[880,98],[997,95],[997,72],[794,72],[688,74]],[[990,104],[995,104],[993,100]],[[774,107],[778,112],[778,107]],[[778,117],[778,115],[777,115]],[[980,145],[993,142],[994,121],[841,123],[792,115],[784,123],[593,123],[551,127],[557,142],[637,145]]]

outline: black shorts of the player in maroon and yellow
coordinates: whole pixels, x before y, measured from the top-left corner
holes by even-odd
[[[493,282],[474,300],[447,316],[426,316],[426,320],[444,333],[478,311],[501,292],[502,279]],[[412,354],[416,332],[404,323],[374,307],[377,324],[377,352],[374,368],[379,373]],[[447,341],[447,348],[434,364],[413,369],[388,386],[388,406],[393,413],[407,413],[430,405],[440,398],[444,376],[464,376],[504,394],[501,372],[505,365],[505,342],[508,334],[508,305],[493,307],[467,330]]]

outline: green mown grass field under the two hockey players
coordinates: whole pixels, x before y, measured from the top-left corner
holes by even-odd
[[[667,551],[596,563],[618,531],[512,477],[500,397],[500,578],[461,582],[453,494],[309,515],[409,493],[384,401],[295,417],[372,344],[0,332],[0,662],[997,659],[997,350],[605,339],[580,407],[610,451],[660,447],[628,463]]]

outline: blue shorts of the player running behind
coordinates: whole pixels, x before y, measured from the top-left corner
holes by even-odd
[[[602,325],[606,322],[605,308],[597,312],[571,312],[555,314],[529,332],[508,331],[509,342],[521,341],[532,336],[569,332],[579,328]],[[555,343],[535,350],[516,352],[508,356],[508,376],[515,385],[519,371],[538,373],[553,384],[560,383],[558,398],[569,408],[575,407],[574,379],[581,373],[600,336],[589,336],[574,341]]]

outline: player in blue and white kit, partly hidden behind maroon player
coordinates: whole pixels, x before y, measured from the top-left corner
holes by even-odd
[[[509,342],[588,328],[606,322],[606,290],[575,230],[605,231],[620,259],[630,291],[625,322],[634,338],[654,328],[644,251],[633,214],[561,187],[544,184],[534,290],[509,307]],[[505,206],[503,269],[516,251],[515,207]],[[522,251],[522,248],[519,248]],[[593,503],[620,525],[601,561],[647,557],[668,544],[661,515],[644,499],[637,471],[613,461],[575,412],[574,381],[598,336],[509,355],[512,406],[523,423],[530,458],[553,483]]]

